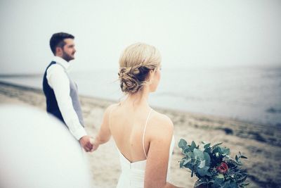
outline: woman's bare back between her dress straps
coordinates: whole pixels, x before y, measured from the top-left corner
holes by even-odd
[[[131,163],[147,158],[149,142],[144,130],[145,125],[150,124],[152,113],[149,106],[133,108],[128,104],[117,104],[110,109],[110,132],[120,153]]]

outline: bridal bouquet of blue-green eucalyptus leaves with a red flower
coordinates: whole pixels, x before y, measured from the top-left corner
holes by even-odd
[[[194,141],[190,145],[181,139],[178,147],[182,149],[183,159],[180,161],[181,168],[191,170],[191,177],[195,174],[198,177],[194,187],[210,188],[242,188],[246,187],[247,171],[242,169],[241,158],[247,158],[239,155],[235,159],[230,158],[230,149],[221,146],[222,143],[205,144],[200,146]]]

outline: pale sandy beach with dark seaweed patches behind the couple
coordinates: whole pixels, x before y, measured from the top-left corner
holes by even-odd
[[[81,96],[86,131],[95,137],[103,117],[105,108],[115,101],[95,99]],[[45,111],[45,96],[40,89],[22,87],[0,82],[0,105],[21,104],[35,106]],[[179,139],[188,143],[194,140],[215,144],[223,142],[230,148],[231,156],[241,151],[248,159],[244,160],[249,177],[248,187],[280,187],[281,184],[281,129],[277,126],[256,125],[253,123],[211,115],[200,115],[183,111],[155,108],[156,111],[168,115],[174,123],[176,140],[171,162],[172,183],[180,187],[193,187],[197,180],[190,177],[190,172],[179,168],[178,161],[183,157],[178,148]],[[98,151],[86,153],[91,168],[93,187],[116,187],[120,174],[119,156],[112,139],[103,144]]]

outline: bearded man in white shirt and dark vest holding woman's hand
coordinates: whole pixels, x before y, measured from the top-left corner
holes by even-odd
[[[85,151],[92,151],[91,137],[86,134],[77,86],[67,74],[69,62],[74,59],[74,36],[59,32],[50,39],[53,61],[46,68],[43,90],[47,112],[67,125]]]

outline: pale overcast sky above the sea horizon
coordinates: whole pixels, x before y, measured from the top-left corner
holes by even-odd
[[[43,73],[54,32],[75,36],[78,71],[117,68],[133,42],[163,66],[281,65],[281,1],[0,0],[0,74]]]

